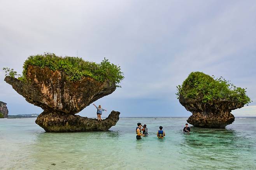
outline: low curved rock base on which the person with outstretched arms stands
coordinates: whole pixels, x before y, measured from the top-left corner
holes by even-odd
[[[55,110],[45,110],[37,117],[35,123],[44,128],[46,132],[107,131],[110,127],[116,125],[119,114],[118,111],[112,111],[106,119],[98,121],[97,119],[61,113]]]

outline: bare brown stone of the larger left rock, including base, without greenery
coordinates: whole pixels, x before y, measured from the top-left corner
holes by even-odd
[[[109,116],[108,120],[95,123],[96,120],[74,115],[94,101],[114,92],[115,83],[101,83],[88,77],[83,77],[80,81],[70,81],[63,71],[38,66],[28,66],[26,79],[28,81],[24,83],[6,76],[5,82],[12,85],[26,101],[44,109],[36,123],[46,132],[107,130],[119,119],[118,116]],[[117,112],[113,114],[119,115]]]

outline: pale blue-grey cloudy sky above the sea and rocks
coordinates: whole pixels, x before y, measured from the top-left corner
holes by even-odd
[[[44,52],[119,64],[122,88],[95,104],[122,117],[190,116],[175,93],[191,71],[247,87],[255,102],[232,113],[256,116],[254,0],[0,0],[0,101],[9,114],[42,109],[4,82],[2,68],[21,73],[28,56]]]

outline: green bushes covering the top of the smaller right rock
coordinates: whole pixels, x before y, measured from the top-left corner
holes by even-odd
[[[214,100],[237,101],[248,104],[251,99],[244,88],[236,87],[223,77],[215,78],[202,72],[192,72],[181,85],[177,86],[177,98],[196,99],[202,102]]]

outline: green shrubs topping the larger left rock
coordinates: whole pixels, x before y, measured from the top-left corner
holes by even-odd
[[[120,66],[110,63],[109,60],[105,58],[100,64],[97,64],[95,62],[84,61],[79,57],[59,57],[53,53],[45,53],[43,55],[39,54],[28,57],[23,65],[22,76],[18,77],[19,80],[26,80],[29,65],[39,66],[41,68],[48,67],[53,71],[64,71],[71,81],[82,80],[84,76],[93,78],[98,82],[109,81],[110,83],[115,83],[116,87],[121,87],[118,84],[124,78]],[[11,71],[13,71],[13,69]],[[12,76],[13,74],[9,75]]]

